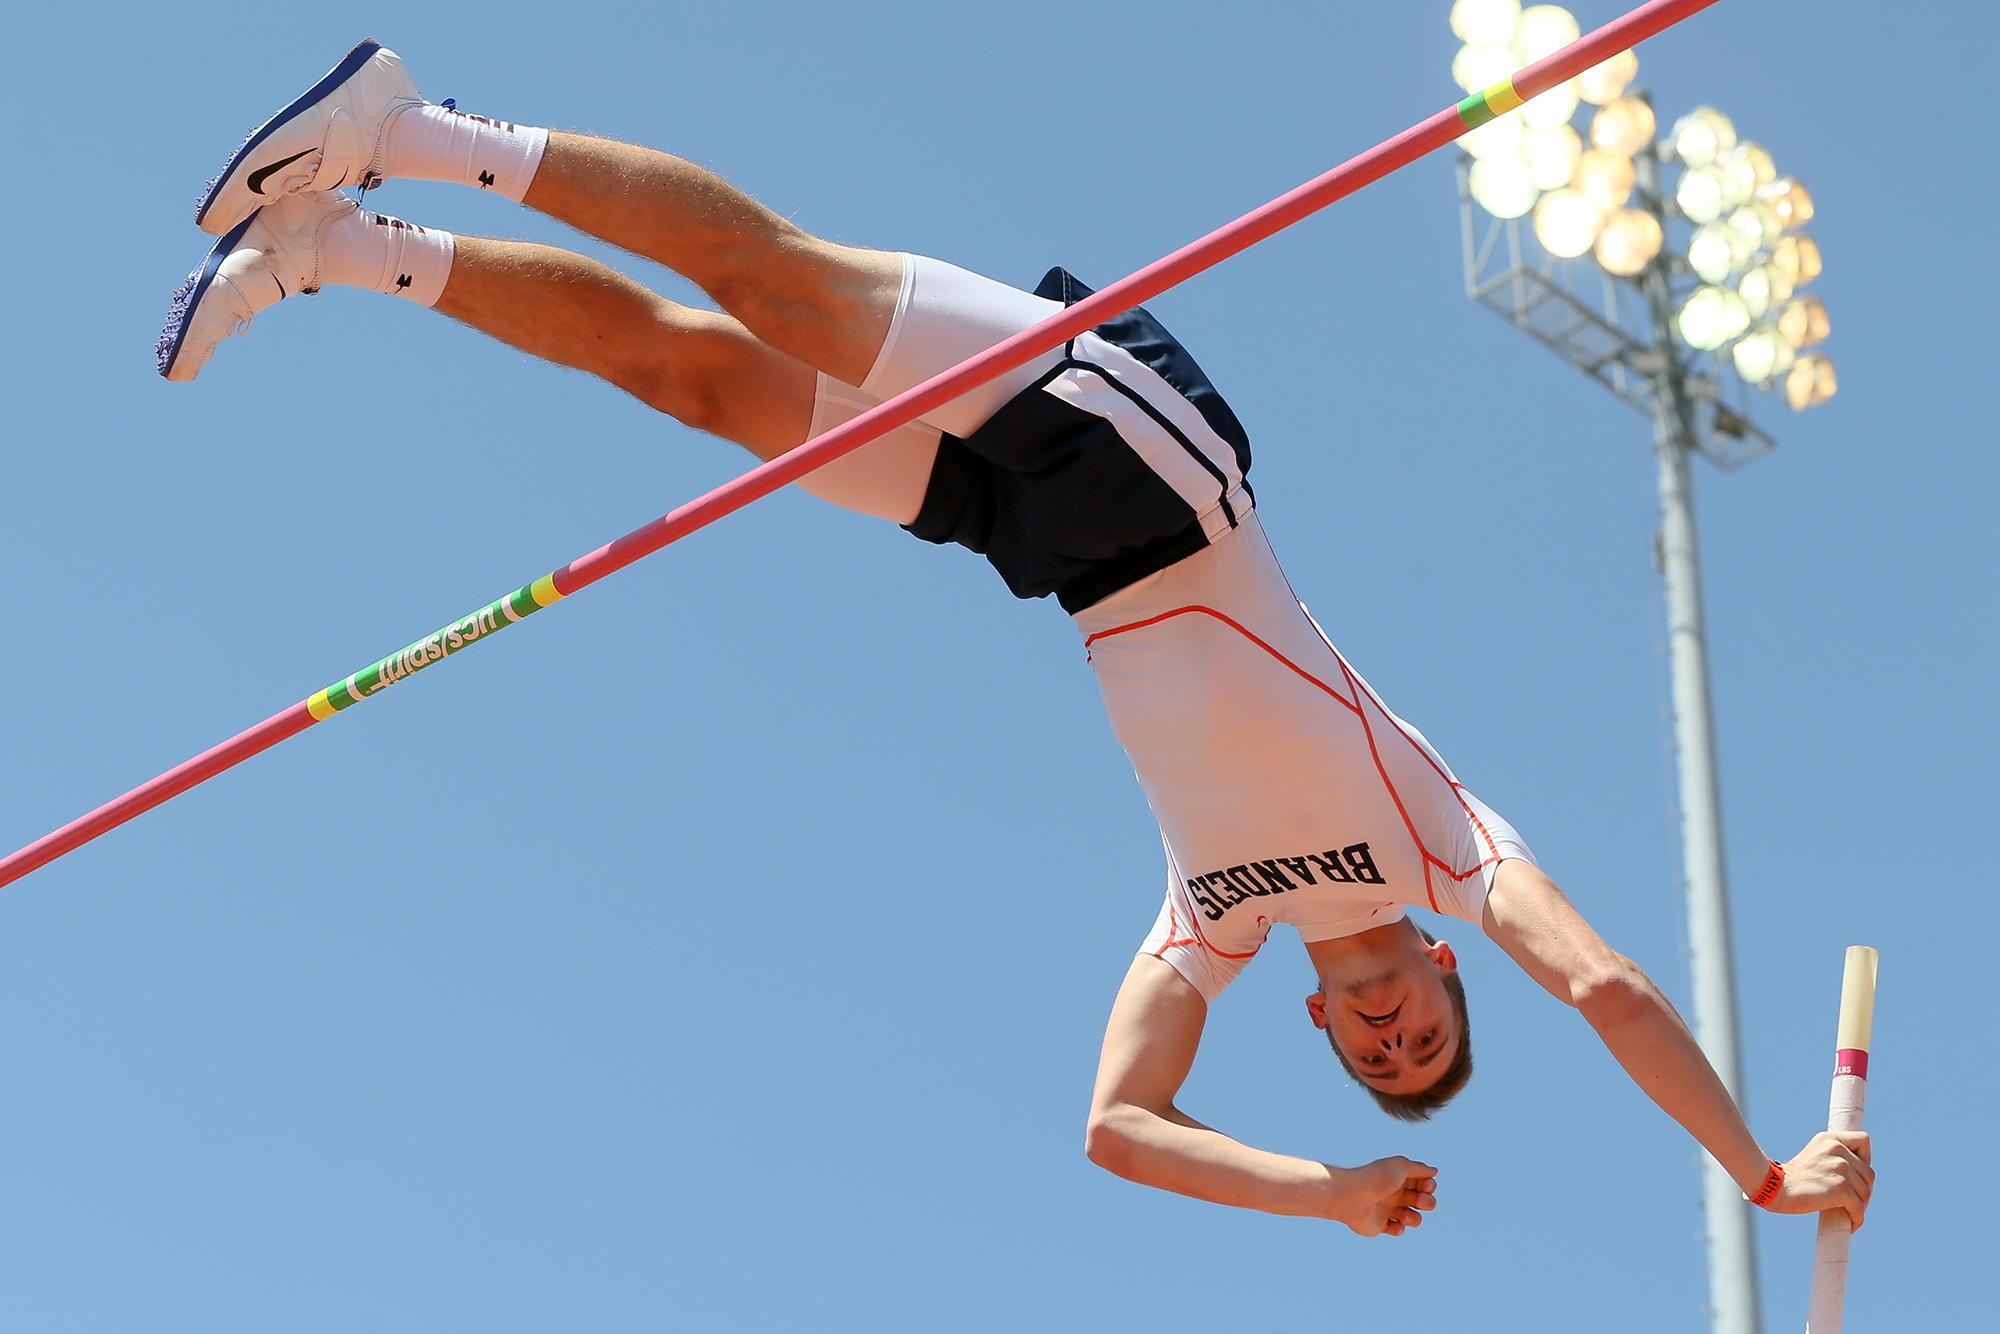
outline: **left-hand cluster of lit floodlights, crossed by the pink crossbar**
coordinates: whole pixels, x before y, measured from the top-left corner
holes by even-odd
[[[1480,92],[1578,38],[1576,16],[1560,4],[1456,0],[1452,32],[1464,42],[1452,78]],[[1496,116],[1458,142],[1472,154],[1472,198],[1496,218],[1534,214],[1534,234],[1554,256],[1596,254],[1630,278],[1660,254],[1660,220],[1630,208],[1632,154],[1652,142],[1652,108],[1624,90],[1638,56],[1620,52],[1566,84]],[[1570,124],[1578,104],[1596,110],[1588,138]]]

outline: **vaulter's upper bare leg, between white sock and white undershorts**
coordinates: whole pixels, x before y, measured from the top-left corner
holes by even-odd
[[[552,132],[526,204],[672,268],[762,342],[848,384],[896,314],[900,256],[820,240],[652,148]]]

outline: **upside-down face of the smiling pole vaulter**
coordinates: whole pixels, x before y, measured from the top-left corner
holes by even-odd
[[[1444,976],[1458,968],[1452,946],[1348,978],[1326,978],[1306,1006],[1370,1088],[1418,1094],[1452,1066],[1460,1032]]]

